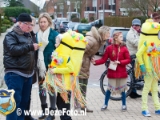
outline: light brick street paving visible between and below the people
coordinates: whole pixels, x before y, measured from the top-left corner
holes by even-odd
[[[4,34],[0,36],[0,55],[3,54],[3,39]],[[2,62],[0,58],[0,62]],[[99,56],[96,56],[99,58]],[[2,66],[1,66],[2,67]],[[149,96],[149,110],[152,117],[145,118],[141,115],[141,99],[131,99],[127,98],[127,111],[121,111],[121,101],[109,101],[108,110],[102,112],[100,111],[101,106],[104,103],[104,95],[102,94],[99,87],[99,77],[105,70],[104,65],[91,66],[91,77],[89,79],[88,92],[87,92],[87,105],[90,109],[93,109],[93,113],[87,113],[86,116],[73,116],[73,120],[159,120],[160,116],[154,114],[153,101],[151,96]],[[32,100],[31,100],[31,110],[40,110],[40,100],[38,96],[38,86],[37,83],[32,89]],[[49,103],[49,102],[48,102]],[[34,116],[38,118],[38,116]],[[0,115],[0,120],[5,120],[5,117]],[[56,120],[60,120],[59,116],[56,116]]]

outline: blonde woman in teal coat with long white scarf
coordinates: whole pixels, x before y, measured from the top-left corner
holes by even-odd
[[[45,73],[48,70],[48,65],[51,62],[51,54],[55,50],[55,38],[58,35],[58,33],[55,30],[53,30],[52,18],[49,16],[48,13],[40,14],[38,24],[40,29],[37,33],[37,41],[42,45],[38,51],[37,61],[39,74],[39,97],[43,113],[45,113],[45,108],[48,107],[46,103],[47,95],[46,90],[44,90],[41,85],[44,81]],[[56,95],[51,96],[49,94],[49,100],[50,110],[56,110]],[[39,119],[54,120],[55,116],[49,115],[46,118],[45,114],[42,114],[42,116],[40,116]]]

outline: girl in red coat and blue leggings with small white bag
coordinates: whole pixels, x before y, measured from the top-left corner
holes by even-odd
[[[127,110],[126,106],[126,94],[127,88],[127,71],[126,65],[130,63],[130,56],[126,46],[123,43],[122,32],[116,32],[113,34],[113,43],[106,48],[105,54],[99,60],[92,59],[94,65],[100,65],[110,59],[110,65],[108,68],[108,89],[105,95],[105,103],[101,108],[101,111],[106,110],[108,107],[108,101],[110,94],[121,93],[122,95],[122,110]],[[113,64],[111,64],[113,63]],[[110,67],[113,65],[113,67]],[[114,70],[112,70],[112,68]]]

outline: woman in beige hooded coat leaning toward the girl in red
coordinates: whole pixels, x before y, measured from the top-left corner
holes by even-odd
[[[98,30],[95,27],[92,27],[91,31],[86,34],[88,44],[86,46],[86,50],[83,56],[82,67],[79,75],[79,82],[85,98],[87,92],[91,58],[98,52],[101,45],[106,43],[106,40],[109,38],[109,36],[110,28],[108,26],[102,26]],[[81,109],[85,110],[85,108],[87,112],[93,112],[93,110],[90,110],[87,106],[82,107]]]

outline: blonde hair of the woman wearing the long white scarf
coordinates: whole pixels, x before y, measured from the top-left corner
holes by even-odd
[[[46,12],[45,12],[45,13],[41,13],[41,14],[39,15],[38,24],[39,24],[41,18],[43,18],[43,17],[45,17],[45,18],[47,19],[47,21],[49,22],[49,26],[54,29],[53,23],[52,23],[52,18],[51,18],[50,15],[49,15],[48,13],[46,13]]]

